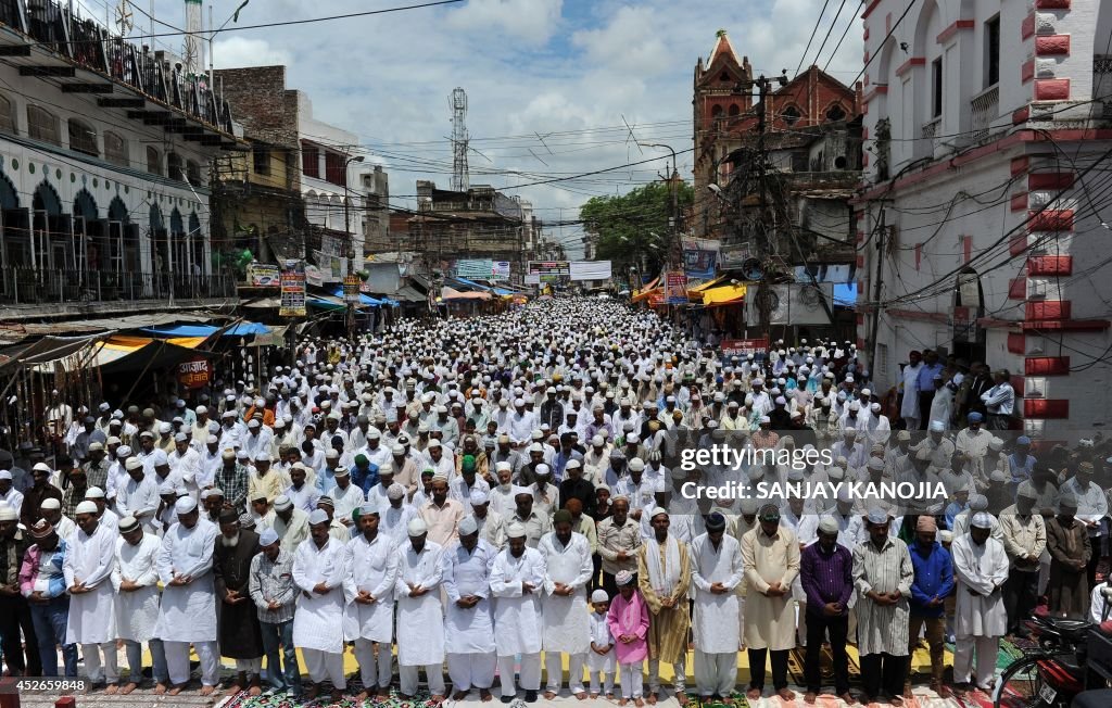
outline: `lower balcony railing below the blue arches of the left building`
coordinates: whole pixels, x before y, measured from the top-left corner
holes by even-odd
[[[0,303],[66,305],[141,300],[205,300],[236,296],[230,273],[117,273],[98,270],[0,269]]]

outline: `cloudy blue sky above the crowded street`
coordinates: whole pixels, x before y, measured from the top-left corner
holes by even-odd
[[[120,0],[81,0],[105,17]],[[220,26],[241,0],[216,0]],[[248,24],[416,4],[421,0],[250,0],[239,22],[217,36],[218,68],[282,63],[289,88],[306,91],[315,116],[358,134],[370,159],[388,167],[399,206],[411,207],[415,180],[447,187],[451,173],[448,94],[467,91],[471,183],[490,183],[533,201],[548,222],[574,220],[596,195],[657,178],[668,153],[638,148],[692,147],[692,76],[725,29],[757,71],[795,72],[823,0],[466,0],[437,8],[287,28]],[[818,46],[843,6],[821,58]],[[151,0],[132,0],[139,28]],[[206,1],[206,22],[208,17]],[[180,28],[183,0],[153,0],[159,20]],[[98,10],[99,8],[99,10]],[[851,10],[853,10],[851,16]],[[842,81],[861,68],[858,0],[831,0],[807,63],[830,62]],[[850,28],[836,56],[832,50]],[[138,31],[138,30],[137,30]],[[148,30],[149,31],[149,30]],[[156,24],[156,32],[171,32]],[[180,37],[158,39],[180,52]],[[576,180],[530,182],[647,160]],[[691,178],[689,152],[679,171]],[[568,243],[575,226],[555,228]]]

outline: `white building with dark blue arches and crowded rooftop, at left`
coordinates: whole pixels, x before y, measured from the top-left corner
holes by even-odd
[[[211,158],[237,147],[227,103],[44,4],[52,21],[0,1],[4,317],[234,299],[212,267],[207,186]]]

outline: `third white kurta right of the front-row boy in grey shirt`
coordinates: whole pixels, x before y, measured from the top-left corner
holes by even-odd
[[[398,598],[398,666],[428,666],[444,661],[444,607],[440,605],[439,544],[426,540],[415,552],[406,540],[398,547],[398,579],[394,592]],[[409,586],[430,590],[420,597],[409,597]]]

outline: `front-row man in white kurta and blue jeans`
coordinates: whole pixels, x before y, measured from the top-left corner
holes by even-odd
[[[133,516],[120,519],[120,538],[116,541],[116,638],[123,641],[130,674],[120,690],[130,694],[139,687],[142,669],[142,642],[150,647],[156,690],[166,690],[166,652],[162,640],[155,636],[158,622],[158,554],[162,545],[157,536],[145,534]]]

